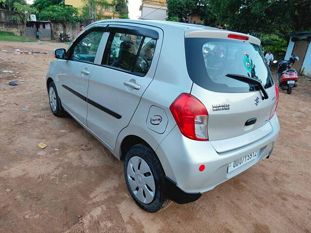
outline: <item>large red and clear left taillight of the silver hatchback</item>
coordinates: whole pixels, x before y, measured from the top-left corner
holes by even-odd
[[[200,100],[182,93],[173,101],[170,110],[183,135],[193,140],[208,140],[208,113]]]

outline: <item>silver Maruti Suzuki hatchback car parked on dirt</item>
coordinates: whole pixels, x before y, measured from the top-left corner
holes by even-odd
[[[65,112],[124,161],[148,212],[203,192],[268,158],[278,89],[256,37],[153,20],[103,20],[54,51],[46,81]]]

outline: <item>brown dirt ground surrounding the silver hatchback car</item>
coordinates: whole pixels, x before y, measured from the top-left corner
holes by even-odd
[[[45,75],[62,47],[0,42],[0,233],[311,232],[311,78],[292,95],[280,91],[269,159],[195,202],[149,214],[131,199],[122,162],[71,117],[52,115]],[[15,49],[51,54],[1,51]]]

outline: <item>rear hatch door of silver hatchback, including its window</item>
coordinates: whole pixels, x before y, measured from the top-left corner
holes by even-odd
[[[187,69],[194,82],[191,95],[207,108],[210,141],[259,129],[268,123],[276,101],[272,75],[260,41],[255,37],[249,39],[248,35],[243,39],[229,38],[229,34],[213,32],[213,37],[208,37],[207,32],[192,33],[185,38]],[[232,79],[227,74],[256,79],[264,86],[268,99],[263,100],[258,84]]]

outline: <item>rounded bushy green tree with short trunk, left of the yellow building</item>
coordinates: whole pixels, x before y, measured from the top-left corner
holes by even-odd
[[[64,24],[65,33],[69,23],[75,24],[81,20],[78,8],[65,5],[49,6],[41,11],[39,18],[41,20],[61,21]]]

